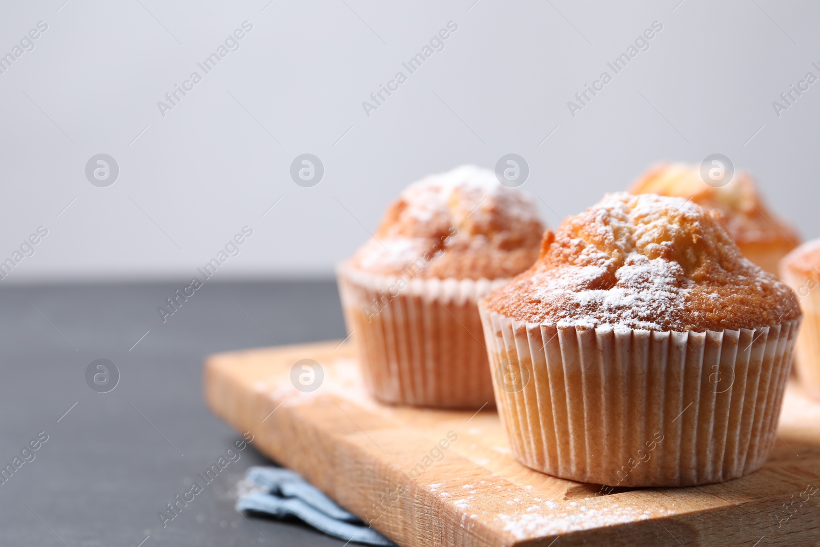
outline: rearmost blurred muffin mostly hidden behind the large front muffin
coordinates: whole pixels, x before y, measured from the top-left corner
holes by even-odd
[[[794,228],[768,211],[754,179],[739,172],[721,188],[707,185],[699,166],[663,163],[654,166],[629,190],[631,194],[659,194],[690,198],[722,213],[723,226],[750,261],[775,275],[778,263],[800,242]]]

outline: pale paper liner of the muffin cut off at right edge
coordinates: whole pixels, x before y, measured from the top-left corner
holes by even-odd
[[[781,268],[781,278],[794,289],[803,310],[803,326],[797,337],[795,370],[800,383],[820,398],[820,280]]]

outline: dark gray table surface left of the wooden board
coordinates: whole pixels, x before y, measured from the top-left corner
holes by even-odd
[[[253,448],[163,528],[157,513],[240,438],[205,408],[205,355],[345,335],[330,280],[208,282],[163,323],[185,285],[0,287],[0,466],[48,434],[0,484],[0,545],[344,545],[235,511],[237,481],[267,462]],[[104,394],[85,381],[98,358],[121,374]]]

